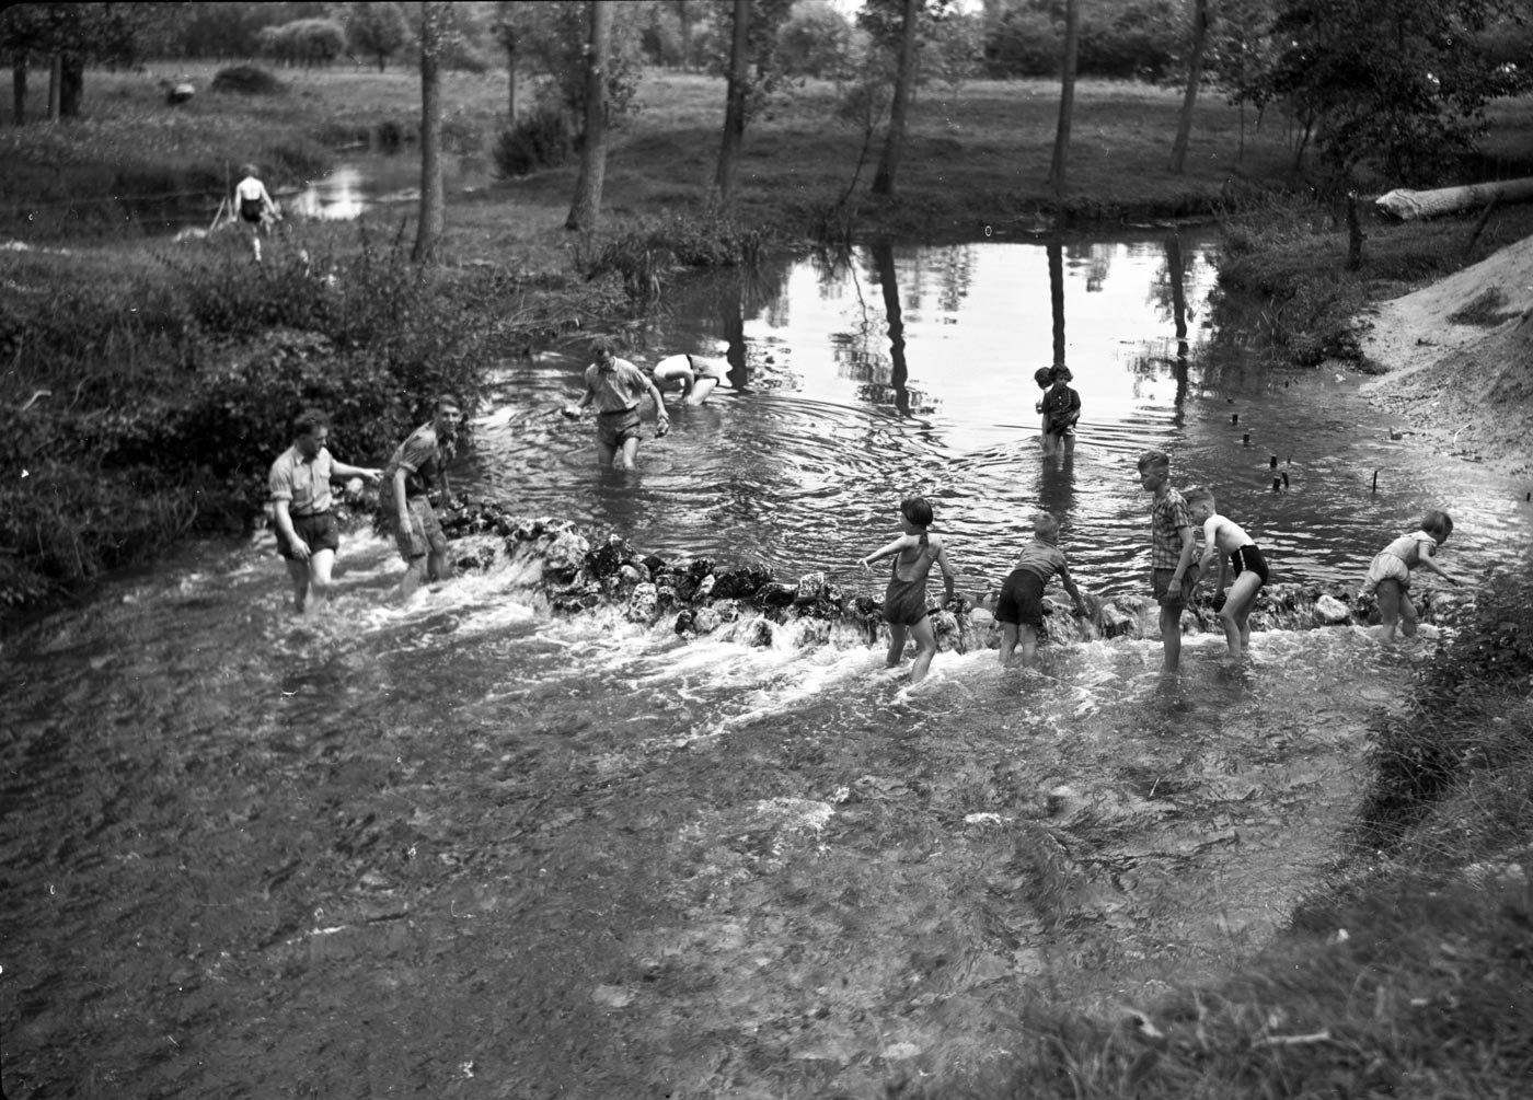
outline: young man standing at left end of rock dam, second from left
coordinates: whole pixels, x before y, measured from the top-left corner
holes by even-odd
[[[383,467],[379,519],[383,530],[394,535],[394,545],[405,559],[405,576],[399,582],[400,599],[414,596],[422,581],[446,581],[452,576],[448,536],[431,507],[431,495],[451,495],[446,467],[454,457],[461,424],[463,409],[458,400],[443,394],[437,398],[431,421],[411,432]]]

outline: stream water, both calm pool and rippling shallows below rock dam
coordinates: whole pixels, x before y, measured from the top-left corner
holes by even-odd
[[[1519,487],[1392,441],[1354,378],[1263,369],[1211,288],[1206,250],[1164,239],[708,279],[633,357],[722,342],[736,385],[639,470],[598,472],[558,417],[560,354],[503,368],[455,487],[789,579],[921,492],[966,591],[1047,507],[1084,587],[1134,593],[1154,446],[1283,579],[1355,581],[1436,504],[1449,568],[1525,559]],[[1061,354],[1081,437],[1044,460],[1032,372]],[[1200,636],[1168,680],[1156,643],[1090,642],[1036,673],[943,653],[911,688],[849,628],[687,640],[553,616],[506,570],[397,608],[397,575],[354,533],[330,613],[296,620],[270,536],[189,547],[6,639],[6,1095],[960,1082],[1030,999],[1141,1003],[1282,927],[1430,653],[1268,631],[1233,666]]]

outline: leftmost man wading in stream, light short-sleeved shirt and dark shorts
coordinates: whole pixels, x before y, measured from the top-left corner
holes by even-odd
[[[340,548],[340,532],[331,512],[336,478],[366,478],[377,484],[380,472],[337,463],[330,449],[330,418],[305,409],[293,421],[293,446],[271,463],[268,486],[277,524],[277,553],[293,581],[293,608],[302,614],[310,596],[330,596],[330,573]]]

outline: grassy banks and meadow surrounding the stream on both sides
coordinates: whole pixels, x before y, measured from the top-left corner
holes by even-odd
[[[291,225],[313,262],[273,248],[254,265],[235,234],[172,244],[146,228],[152,199],[124,205],[113,196],[175,195],[175,205],[210,218],[247,161],[282,190],[360,149],[412,158],[417,78],[277,70],[282,95],[235,97],[205,90],[212,66],[152,69],[92,70],[84,118],[0,130],[0,242],[11,242],[0,251],[0,455],[8,470],[28,473],[0,486],[0,614],[78,593],[189,533],[239,530],[256,515],[265,464],[287,444],[287,420],[302,401],[323,400],[337,437],[376,432],[377,453],[434,389],[472,398],[486,355],[619,326],[641,306],[624,293],[621,264],[593,259],[604,242],[754,234],[791,245],[829,227],[1004,237],[1058,224],[1219,216],[1229,231],[1226,283],[1271,313],[1295,358],[1314,360],[1344,354],[1338,334],[1371,296],[1401,293],[1533,231],[1525,208],[1507,208],[1470,251],[1473,216],[1369,222],[1364,270],[1346,273],[1341,208],[1292,173],[1275,113],[1257,129],[1252,113],[1242,118],[1205,92],[1187,172],[1173,175],[1180,95],[1101,81],[1076,92],[1062,198],[1046,181],[1052,84],[921,89],[891,199],[868,195],[877,146],[848,195],[863,135],[837,121],[839,90],[793,89],[751,121],[736,219],[724,224],[707,213],[722,83],[648,74],[641,110],[613,138],[606,222],[581,239],[564,230],[575,164],[515,181],[486,172],[506,123],[506,78],[492,72],[445,78],[449,150],[487,182],[449,193],[438,265],[408,262],[412,231],[399,224],[408,208],[386,225]],[[204,90],[169,107],[159,77]],[[40,100],[34,75],[34,110]],[[1504,104],[1484,170],[1530,169],[1533,103]],[[342,273],[339,291],[328,271]],[[481,323],[491,313],[497,323]],[[394,397],[368,404],[360,392]],[[1121,1020],[1042,1007],[1015,1068],[963,1095],[1525,1094],[1530,622],[1533,590],[1487,604],[1482,622],[1424,668],[1397,717],[1380,720],[1355,856],[1248,971]],[[958,1092],[909,1080],[891,1082],[889,1095]]]

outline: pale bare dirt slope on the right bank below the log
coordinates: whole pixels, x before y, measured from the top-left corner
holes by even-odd
[[[1443,453],[1533,473],[1533,237],[1360,319],[1363,392]]]

